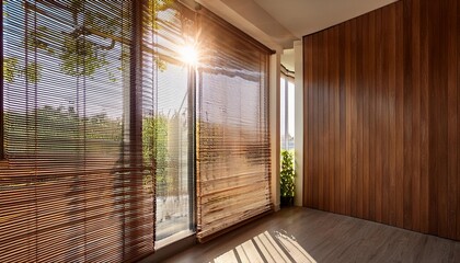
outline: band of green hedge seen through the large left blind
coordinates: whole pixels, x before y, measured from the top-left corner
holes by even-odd
[[[104,151],[107,155],[119,151],[122,123],[119,119],[111,119],[106,114],[81,117],[71,106],[68,108],[43,106],[27,114],[5,112],[4,118],[8,138],[5,142],[9,144],[7,149],[15,151],[16,155],[24,153],[21,151],[28,149],[25,145],[30,144],[25,140],[26,137],[36,141],[36,148],[33,150],[38,152],[59,153],[71,150],[77,152],[81,150],[76,148],[77,142],[82,139],[87,141],[87,151],[100,153]],[[18,125],[27,123],[33,125]],[[101,148],[102,141],[104,148]]]

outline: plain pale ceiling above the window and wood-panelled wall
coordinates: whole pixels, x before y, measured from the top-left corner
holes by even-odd
[[[304,35],[322,31],[395,1],[196,0],[253,36],[264,33],[283,48],[291,48],[294,41],[299,41]],[[264,43],[264,41],[261,42]]]

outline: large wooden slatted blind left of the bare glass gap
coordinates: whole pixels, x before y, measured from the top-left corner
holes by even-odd
[[[171,2],[3,1],[0,262],[153,251],[149,125],[156,72],[171,60],[158,34],[177,27],[159,30]]]

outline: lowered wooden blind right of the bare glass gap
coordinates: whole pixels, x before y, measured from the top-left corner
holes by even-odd
[[[200,240],[271,209],[269,50],[203,9],[198,19]]]

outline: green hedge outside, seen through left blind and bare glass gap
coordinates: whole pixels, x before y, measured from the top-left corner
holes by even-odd
[[[87,152],[94,152],[99,157],[119,158],[123,149],[123,126],[120,119],[112,119],[106,114],[81,117],[72,106],[67,108],[44,106],[28,112],[5,112],[7,149],[10,155],[27,155],[27,150],[36,153],[59,155],[73,152],[78,155],[81,140],[85,141]],[[33,123],[33,129],[19,123]],[[36,125],[35,125],[36,124]],[[172,184],[172,176],[168,176],[168,127],[166,116],[146,117],[142,121],[142,156],[145,168],[154,173],[157,194],[166,195]],[[26,139],[28,138],[28,139]],[[27,144],[35,141],[34,148]],[[59,142],[61,141],[61,142]],[[80,142],[79,142],[80,141]],[[103,146],[103,147],[101,147]],[[114,162],[115,164],[115,162]],[[152,174],[143,176],[143,187],[151,193]]]

